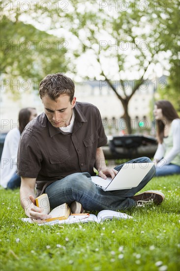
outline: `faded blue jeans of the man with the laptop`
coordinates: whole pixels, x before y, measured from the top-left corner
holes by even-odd
[[[148,157],[137,158],[128,163],[150,163]],[[120,170],[123,164],[115,167]],[[103,191],[96,186],[92,181],[88,172],[74,173],[66,176],[50,184],[45,193],[48,194],[51,208],[67,203],[68,205],[73,201],[77,201],[83,205],[86,210],[122,210],[135,206],[136,203],[133,197],[140,191],[154,176],[155,167],[153,166],[148,174],[144,177],[141,183],[134,188],[114,191]]]

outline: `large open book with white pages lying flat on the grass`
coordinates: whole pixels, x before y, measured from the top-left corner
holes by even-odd
[[[125,213],[120,213],[111,210],[102,210],[100,211],[97,216],[94,214],[71,214],[67,219],[64,220],[54,220],[46,223],[38,224],[39,226],[42,225],[54,225],[54,224],[72,224],[72,223],[87,223],[87,222],[97,222],[101,223],[105,220],[111,219],[131,219],[132,216],[127,215]],[[33,223],[30,218],[22,218],[24,222]]]

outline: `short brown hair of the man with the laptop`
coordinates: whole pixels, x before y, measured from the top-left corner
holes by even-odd
[[[60,95],[69,96],[70,102],[74,98],[74,82],[71,78],[62,73],[48,74],[39,84],[40,98],[48,95],[52,100],[56,100]]]

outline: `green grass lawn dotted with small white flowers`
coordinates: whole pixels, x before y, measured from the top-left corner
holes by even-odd
[[[0,270],[178,271],[180,176],[153,178],[150,189],[166,200],[126,211],[133,220],[38,226],[19,219],[19,190],[1,188]]]

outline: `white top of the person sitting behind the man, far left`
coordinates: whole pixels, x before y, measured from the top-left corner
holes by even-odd
[[[7,187],[8,181],[17,170],[17,153],[20,131],[14,128],[8,132],[4,140],[4,147],[0,159],[0,185]]]

